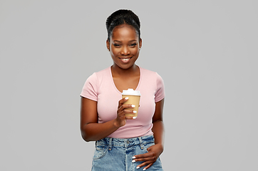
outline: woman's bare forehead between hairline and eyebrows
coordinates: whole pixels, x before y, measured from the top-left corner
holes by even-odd
[[[122,24],[119,26],[116,26],[113,29],[113,33],[111,38],[113,40],[131,40],[135,39],[138,40],[138,34],[135,31],[135,28],[133,26],[129,26],[128,24]]]

